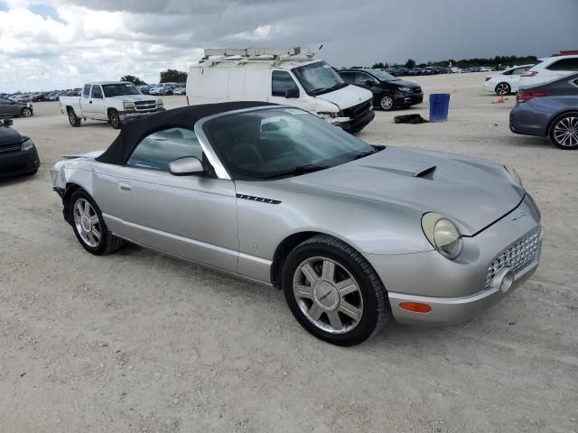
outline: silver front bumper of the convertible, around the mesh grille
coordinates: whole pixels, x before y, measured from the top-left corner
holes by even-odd
[[[437,251],[364,256],[383,281],[397,321],[422,325],[460,323],[506,297],[536,271],[541,239],[533,261],[514,274],[510,287],[486,287],[489,264],[539,226],[539,211],[527,195],[516,209],[492,226],[473,237],[463,237],[463,251],[454,261]],[[400,307],[403,302],[421,302],[432,310],[407,311]]]

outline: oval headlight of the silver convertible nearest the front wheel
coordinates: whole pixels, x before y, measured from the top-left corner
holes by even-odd
[[[422,229],[430,244],[447,259],[461,254],[463,243],[458,227],[448,217],[429,212],[422,217]]]

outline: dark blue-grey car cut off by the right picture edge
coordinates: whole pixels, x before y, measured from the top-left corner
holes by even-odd
[[[519,88],[509,129],[515,134],[548,136],[560,149],[578,149],[578,73]]]

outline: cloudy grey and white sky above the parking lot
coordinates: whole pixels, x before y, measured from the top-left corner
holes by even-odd
[[[324,47],[333,66],[578,49],[578,0],[0,0],[0,92],[186,70],[203,48]]]

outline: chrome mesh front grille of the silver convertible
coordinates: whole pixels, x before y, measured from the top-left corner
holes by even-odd
[[[508,267],[516,274],[522,271],[528,264],[534,262],[540,244],[541,234],[542,228],[538,227],[516,243],[511,244],[505,252],[499,254],[499,256],[489,264],[488,274],[486,275],[486,289],[489,288],[491,281],[502,269]]]

